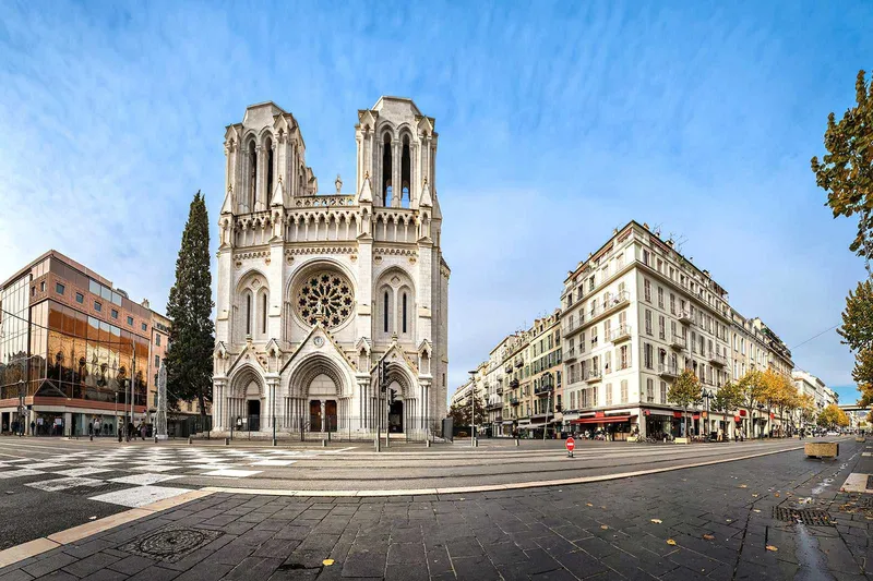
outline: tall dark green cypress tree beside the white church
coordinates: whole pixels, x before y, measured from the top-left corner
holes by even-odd
[[[167,302],[167,316],[172,320],[167,351],[167,401],[178,409],[179,400],[195,399],[201,416],[206,414],[206,402],[212,401],[215,346],[212,307],[210,220],[205,197],[198,191],[176,259],[176,285]]]

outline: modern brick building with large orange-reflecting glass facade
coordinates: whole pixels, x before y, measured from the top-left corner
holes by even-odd
[[[115,435],[144,419],[153,312],[50,251],[0,286],[5,432]],[[159,364],[159,361],[158,361]]]

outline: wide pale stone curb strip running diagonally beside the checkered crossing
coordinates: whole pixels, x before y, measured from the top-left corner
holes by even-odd
[[[180,494],[179,496],[174,496],[172,498],[165,498],[164,500],[158,500],[156,503],[152,503],[151,505],[132,508],[130,510],[125,510],[124,512],[118,512],[99,520],[73,526],[72,529],[67,529],[65,531],[59,531],[48,536],[43,536],[33,541],[28,541],[27,543],[22,543],[21,545],[15,545],[14,547],[9,547],[4,550],[0,550],[0,569],[19,562],[20,560],[35,557],[36,555],[46,553],[52,548],[57,548],[62,545],[69,545],[70,543],[75,543],[76,541],[81,541],[82,538],[88,537],[93,534],[101,533],[118,526],[119,524],[125,524],[143,517],[148,517],[156,512],[160,512],[162,510],[167,510],[168,508],[182,505],[190,500],[203,498],[204,496],[208,496],[211,494],[211,491],[205,489],[191,491],[190,493]]]

